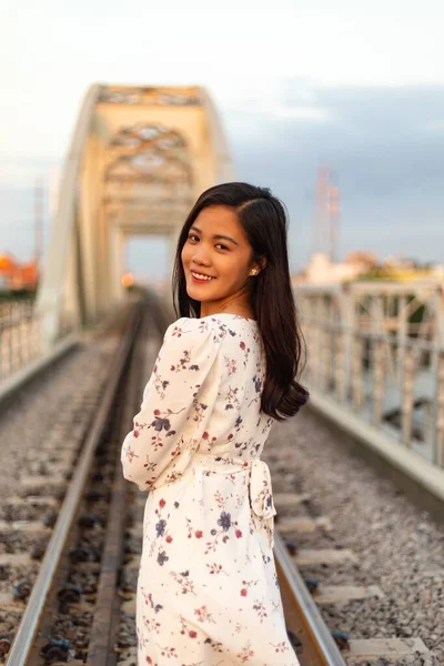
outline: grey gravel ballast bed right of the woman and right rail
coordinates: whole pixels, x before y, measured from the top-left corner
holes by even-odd
[[[444,665],[444,527],[352,456],[309,410],[274,424],[263,458],[275,493],[310,494],[307,503],[279,516],[324,515],[332,522],[329,533],[289,541],[299,548],[350,548],[357,556],[357,566],[303,566],[303,577],[326,585],[376,585],[384,593],[383,598],[323,605],[329,628],[349,632],[352,639],[418,637],[430,654],[402,657],[396,665]]]

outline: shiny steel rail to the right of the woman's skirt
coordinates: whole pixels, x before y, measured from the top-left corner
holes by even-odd
[[[279,529],[279,525],[278,525]],[[346,666],[340,649],[322,619],[312,595],[289,555],[279,534],[274,536],[274,557],[283,597],[289,598],[302,623],[303,633],[310,642],[310,656],[304,664],[316,666]]]

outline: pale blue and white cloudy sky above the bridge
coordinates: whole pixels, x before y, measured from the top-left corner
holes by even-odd
[[[341,191],[339,259],[443,262],[443,24],[442,0],[0,0],[0,252],[32,256],[36,179],[54,182],[102,82],[208,88],[235,178],[286,204],[292,270],[316,250],[322,164]],[[168,271],[159,239],[127,261]]]

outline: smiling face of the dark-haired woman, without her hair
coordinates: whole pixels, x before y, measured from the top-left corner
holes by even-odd
[[[222,303],[245,292],[253,268],[252,254],[245,232],[231,208],[204,209],[190,226],[182,249],[188,295],[195,301]]]

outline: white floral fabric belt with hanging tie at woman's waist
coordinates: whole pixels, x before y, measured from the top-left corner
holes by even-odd
[[[194,454],[193,462],[202,464],[206,470],[223,474],[249,470],[250,505],[256,528],[266,534],[270,547],[274,546],[274,516],[276,509],[273,503],[273,491],[269,465],[259,457],[253,461],[242,458],[222,458],[210,454]]]

